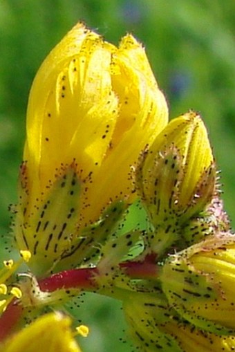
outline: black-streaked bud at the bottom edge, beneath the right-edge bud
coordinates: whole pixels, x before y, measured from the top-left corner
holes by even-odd
[[[135,293],[126,299],[123,309],[129,333],[142,352],[229,352],[235,349],[235,335],[196,328],[180,318],[162,293]]]

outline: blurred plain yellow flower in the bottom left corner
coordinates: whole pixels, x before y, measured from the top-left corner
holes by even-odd
[[[4,352],[80,352],[71,331],[71,319],[60,313],[50,313],[10,336],[0,345]]]

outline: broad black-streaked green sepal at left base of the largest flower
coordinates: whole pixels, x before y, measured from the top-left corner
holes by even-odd
[[[21,193],[27,195],[27,192]],[[27,197],[23,197],[23,204],[19,202],[15,238],[20,250],[31,252],[28,266],[34,275],[47,275],[63,253],[71,248],[80,193],[81,181],[71,165],[62,168],[55,182],[48,185],[46,195],[41,194],[41,198],[31,200],[34,203],[31,214],[27,211]]]

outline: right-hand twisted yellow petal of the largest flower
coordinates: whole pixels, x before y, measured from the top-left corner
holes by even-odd
[[[131,167],[135,168],[140,152],[151,145],[168,119],[166,100],[158,89],[144,48],[131,35],[122,39],[112,56],[111,78],[120,110],[110,149],[87,192],[97,209],[101,200],[107,204],[125,194],[130,196]],[[91,218],[92,212],[93,208],[87,207],[86,218]]]

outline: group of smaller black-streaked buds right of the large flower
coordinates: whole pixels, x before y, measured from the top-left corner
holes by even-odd
[[[151,256],[156,270],[138,277],[124,313],[141,351],[235,349],[235,237],[217,181],[207,131],[191,111],[140,158],[137,187],[151,223],[140,260]]]

